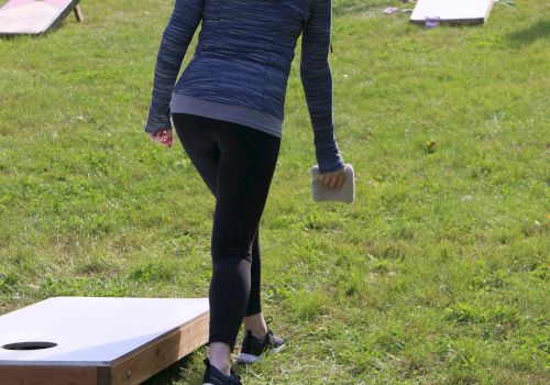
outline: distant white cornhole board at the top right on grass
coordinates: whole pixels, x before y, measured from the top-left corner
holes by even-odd
[[[440,18],[442,23],[486,23],[494,0],[418,0],[410,21],[425,23],[426,18]]]

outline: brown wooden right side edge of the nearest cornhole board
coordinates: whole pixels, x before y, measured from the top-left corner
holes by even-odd
[[[111,385],[136,385],[208,342],[210,314],[204,312],[111,363]]]

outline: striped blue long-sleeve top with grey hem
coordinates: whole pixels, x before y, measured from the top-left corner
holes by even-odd
[[[332,120],[331,0],[176,0],[158,51],[146,132],[191,113],[282,136],[300,34],[300,76],[321,173],[343,167]],[[195,55],[179,73],[201,24]],[[177,80],[177,82],[176,82]]]

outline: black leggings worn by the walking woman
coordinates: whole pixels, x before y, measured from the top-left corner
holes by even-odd
[[[244,316],[260,304],[260,218],[280,139],[249,127],[173,114],[185,151],[216,197],[209,343],[233,349]]]

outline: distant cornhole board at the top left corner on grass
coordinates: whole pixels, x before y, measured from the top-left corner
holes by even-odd
[[[0,8],[0,35],[40,35],[46,33],[59,25],[79,1],[9,0]]]

